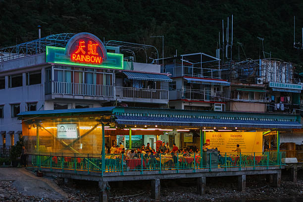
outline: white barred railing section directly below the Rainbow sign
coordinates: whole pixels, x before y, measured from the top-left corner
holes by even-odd
[[[67,82],[46,82],[45,94],[75,96],[113,97],[113,86],[96,84],[79,84]]]

